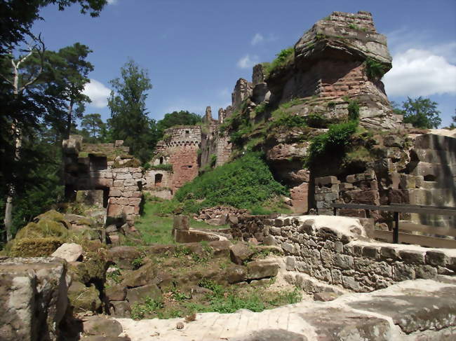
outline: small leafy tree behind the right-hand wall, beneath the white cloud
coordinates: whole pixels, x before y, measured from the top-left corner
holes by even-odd
[[[440,111],[437,110],[437,103],[429,98],[418,97],[402,103],[401,113],[404,123],[410,123],[413,127],[420,129],[437,128],[441,124]]]

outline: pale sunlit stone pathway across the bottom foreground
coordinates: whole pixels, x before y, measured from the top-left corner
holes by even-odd
[[[197,314],[182,329],[182,319],[116,320],[132,341],[456,340],[456,285],[418,279],[332,302]]]

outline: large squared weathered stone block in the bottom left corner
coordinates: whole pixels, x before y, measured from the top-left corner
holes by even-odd
[[[57,340],[66,274],[60,258],[0,258],[1,340]]]

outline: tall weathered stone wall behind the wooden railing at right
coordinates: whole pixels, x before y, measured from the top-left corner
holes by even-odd
[[[383,154],[368,170],[347,176],[315,178],[314,200],[318,214],[333,214],[330,204],[416,204],[456,206],[456,139],[436,134],[412,136],[405,148],[401,137],[387,135],[378,146]],[[340,209],[341,216],[366,217],[364,210]],[[376,221],[387,213],[371,211]],[[455,217],[401,214],[402,220],[443,227],[456,226]],[[391,217],[389,218],[391,220]]]

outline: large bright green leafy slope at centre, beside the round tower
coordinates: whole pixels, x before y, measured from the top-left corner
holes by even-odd
[[[204,207],[228,204],[248,208],[276,194],[285,194],[285,188],[274,180],[259,154],[246,153],[186,183],[175,199],[202,200]]]

